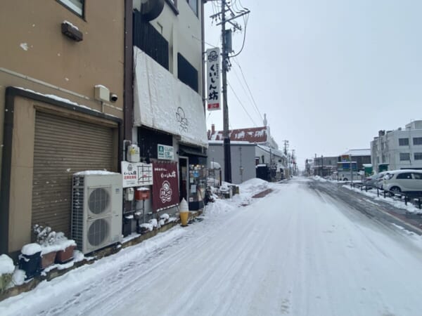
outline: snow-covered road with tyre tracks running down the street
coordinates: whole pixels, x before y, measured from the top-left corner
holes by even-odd
[[[421,315],[421,237],[306,179],[257,183],[201,223],[0,302],[0,315]]]

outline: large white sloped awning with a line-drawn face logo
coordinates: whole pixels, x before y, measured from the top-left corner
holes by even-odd
[[[207,147],[201,96],[134,47],[134,126],[180,136],[181,143]]]

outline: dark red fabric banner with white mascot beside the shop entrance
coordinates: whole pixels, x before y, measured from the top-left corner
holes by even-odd
[[[153,163],[153,210],[179,204],[179,177],[176,162]]]

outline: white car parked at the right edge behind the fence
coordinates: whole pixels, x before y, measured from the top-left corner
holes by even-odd
[[[388,171],[383,179],[383,189],[395,192],[422,192],[422,170]]]

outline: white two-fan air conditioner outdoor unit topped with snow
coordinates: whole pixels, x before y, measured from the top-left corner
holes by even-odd
[[[83,171],[72,179],[72,239],[89,254],[122,241],[122,175]]]

